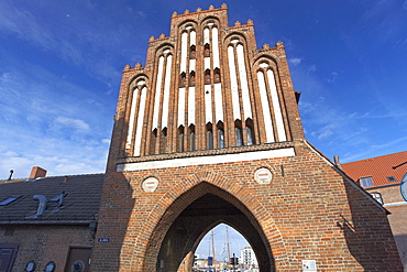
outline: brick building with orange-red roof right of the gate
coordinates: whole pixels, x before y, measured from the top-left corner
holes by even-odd
[[[391,211],[388,220],[407,271],[407,202],[400,182],[407,173],[407,151],[342,164],[343,171]]]

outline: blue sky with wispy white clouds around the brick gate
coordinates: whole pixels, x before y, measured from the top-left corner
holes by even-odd
[[[223,1],[0,1],[0,178],[103,172],[124,65],[170,15]],[[229,1],[283,41],[306,137],[343,163],[407,150],[407,1]]]

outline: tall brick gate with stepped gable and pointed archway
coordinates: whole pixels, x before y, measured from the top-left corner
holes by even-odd
[[[174,13],[123,70],[92,271],[190,271],[221,222],[262,272],[400,271],[386,209],[306,141],[297,102],[253,21]]]

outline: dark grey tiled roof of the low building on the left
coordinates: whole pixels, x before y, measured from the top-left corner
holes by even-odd
[[[13,195],[16,200],[0,206],[0,224],[90,221],[98,217],[105,174],[53,176],[26,182],[28,179],[0,181],[0,202]],[[36,214],[38,200],[34,195],[44,195],[48,200],[65,192],[63,206],[48,203],[46,210],[37,219],[26,219]]]

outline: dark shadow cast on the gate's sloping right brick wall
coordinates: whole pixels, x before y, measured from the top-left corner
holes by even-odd
[[[344,181],[350,214],[341,215],[348,249],[364,271],[403,271],[385,209]]]

